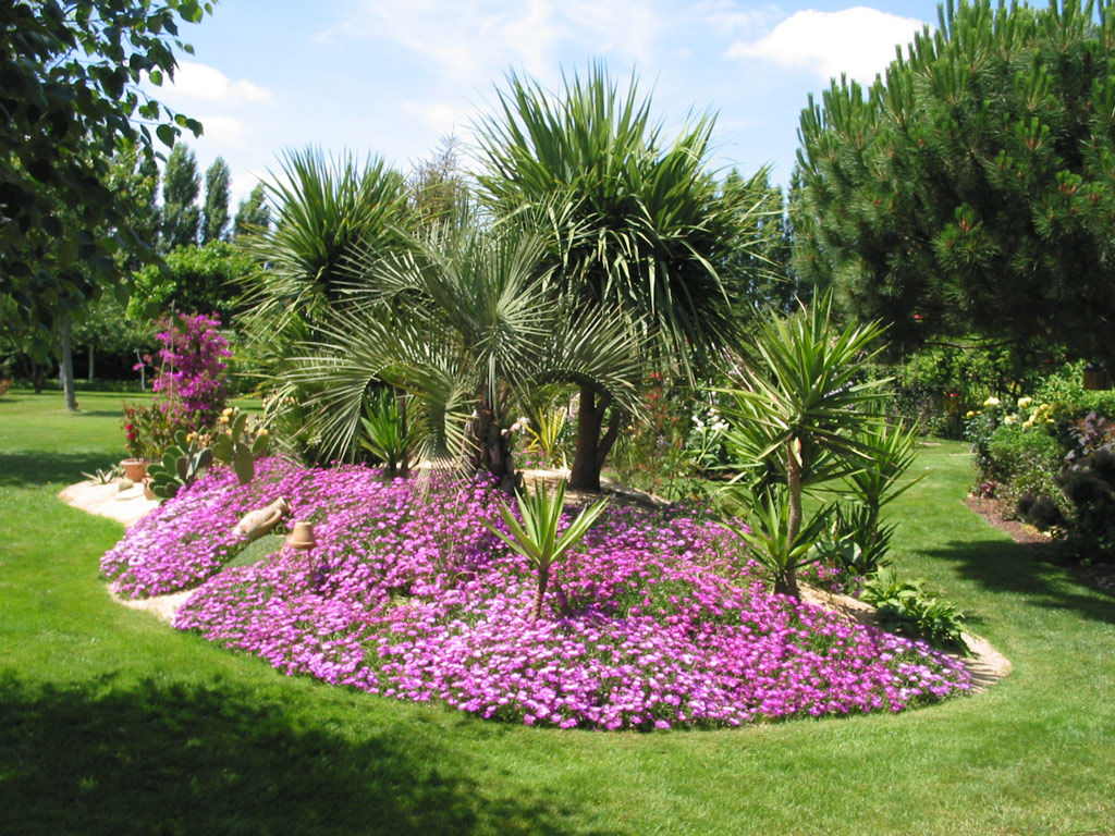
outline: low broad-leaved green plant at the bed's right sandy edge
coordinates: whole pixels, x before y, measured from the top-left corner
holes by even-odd
[[[890,632],[924,639],[964,655],[971,650],[963,639],[964,616],[948,601],[929,595],[924,581],[899,581],[876,575],[864,584],[861,599],[875,607],[880,625]]]

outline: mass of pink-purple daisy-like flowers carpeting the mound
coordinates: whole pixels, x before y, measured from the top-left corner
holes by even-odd
[[[284,496],[318,547],[222,566],[239,515]],[[562,728],[736,726],[900,711],[970,687],[921,642],[765,592],[708,521],[612,508],[534,575],[492,535],[498,495],[360,467],[275,460],[246,486],[215,470],[136,525],[101,562],[123,594],[196,586],[175,625],[289,674],[485,718]]]

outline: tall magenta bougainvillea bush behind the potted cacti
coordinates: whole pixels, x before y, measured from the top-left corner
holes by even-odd
[[[161,325],[159,370],[152,387],[156,404],[183,425],[212,425],[227,397],[225,359],[232,356],[219,331],[221,320],[194,313]]]

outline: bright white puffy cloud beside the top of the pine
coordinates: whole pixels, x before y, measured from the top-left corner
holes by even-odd
[[[915,18],[863,6],[833,12],[808,9],[791,14],[757,41],[736,41],[728,57],[805,68],[824,79],[846,72],[869,82],[894,60],[895,45],[904,47],[922,26]]]

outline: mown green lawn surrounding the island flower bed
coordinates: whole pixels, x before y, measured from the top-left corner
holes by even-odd
[[[735,731],[501,726],[288,679],[118,606],[116,524],[57,502],[123,455],[120,395],[0,398],[0,834],[1105,834],[1115,601],[962,504],[922,450],[896,568],[1015,664],[898,716]]]

